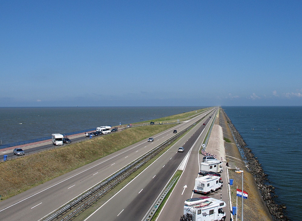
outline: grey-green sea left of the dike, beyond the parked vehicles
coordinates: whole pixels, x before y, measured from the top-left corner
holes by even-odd
[[[117,126],[202,109],[183,107],[0,107],[2,144]]]

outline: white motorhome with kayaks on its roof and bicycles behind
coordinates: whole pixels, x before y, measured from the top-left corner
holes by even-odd
[[[224,221],[226,213],[221,209],[223,207],[226,207],[225,202],[210,197],[196,201],[188,199],[185,201],[184,215],[191,216],[192,221]]]

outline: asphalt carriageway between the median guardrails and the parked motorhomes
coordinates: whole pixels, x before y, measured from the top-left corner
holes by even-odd
[[[207,134],[207,130],[205,130],[207,125],[204,126],[204,122],[206,122],[207,125],[210,125],[208,118],[202,120],[125,188],[120,190],[114,197],[108,200],[108,202],[103,204],[95,211],[95,213],[85,220],[104,220],[106,217],[109,218],[109,220],[121,220],[121,218],[125,221],[144,220],[149,209],[153,207],[155,201],[162,193],[165,186],[168,185],[169,180],[172,178],[185,156],[188,155],[188,170],[186,171],[189,172],[183,176],[183,178],[188,179],[189,182],[187,183],[188,188],[185,189],[182,197],[184,200],[172,200],[169,211],[173,214],[173,218],[168,214],[167,216],[163,216],[162,219],[179,220],[180,216],[183,214],[184,201],[191,197],[192,190],[194,189],[194,180],[198,176],[198,150]],[[212,120],[210,120],[210,122],[212,122]],[[209,126],[207,126],[207,128],[209,128]],[[178,153],[178,147],[185,147],[185,152]],[[192,183],[193,185],[189,185]],[[183,188],[181,191],[183,191]],[[188,197],[188,195],[190,195],[190,197]],[[181,206],[176,207],[175,204],[178,201],[181,202]]]

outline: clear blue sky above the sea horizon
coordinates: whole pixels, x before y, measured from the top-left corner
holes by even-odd
[[[1,1],[0,106],[302,105],[301,1]]]

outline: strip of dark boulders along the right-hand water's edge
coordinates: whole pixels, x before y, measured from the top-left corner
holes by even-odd
[[[274,221],[289,220],[288,217],[284,215],[284,212],[286,212],[286,206],[284,204],[279,205],[275,203],[274,198],[278,197],[278,195],[275,195],[275,188],[272,185],[266,184],[270,183],[268,180],[268,175],[265,174],[265,172],[263,171],[261,164],[257,160],[257,157],[255,157],[255,155],[252,153],[252,150],[246,147],[245,141],[243,140],[239,132],[236,130],[235,126],[233,125],[230,118],[226,115],[224,110],[220,110],[223,112],[226,124],[230,128],[230,131],[233,135],[233,138],[236,142],[239,151],[242,150],[244,153],[243,160],[245,161],[246,168],[248,169],[248,172],[253,175],[256,185],[260,190],[262,199],[264,200],[266,207],[268,208],[268,211],[272,216],[272,219]]]

